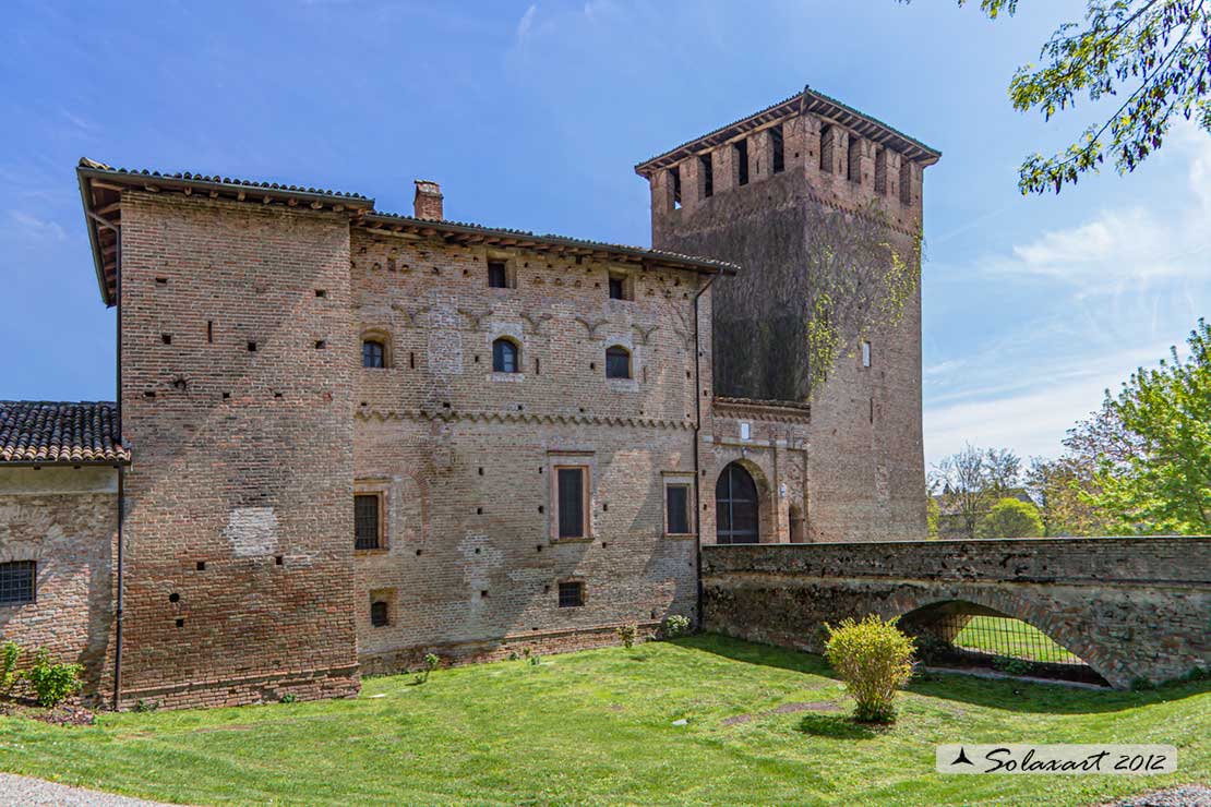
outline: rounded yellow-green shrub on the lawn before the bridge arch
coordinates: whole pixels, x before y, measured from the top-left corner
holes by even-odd
[[[874,615],[825,628],[825,656],[857,702],[854,716],[863,722],[894,721],[896,690],[912,676],[913,640],[895,619],[884,622]]]

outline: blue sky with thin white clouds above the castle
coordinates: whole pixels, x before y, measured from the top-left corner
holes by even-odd
[[[74,166],[355,190],[409,211],[649,243],[632,166],[802,88],[943,151],[926,172],[928,462],[1054,455],[1102,390],[1211,302],[1211,137],[1023,198],[1017,166],[1092,121],[1014,111],[1014,69],[1083,4],[995,23],[949,0],[6,4],[0,398],[111,398]]]

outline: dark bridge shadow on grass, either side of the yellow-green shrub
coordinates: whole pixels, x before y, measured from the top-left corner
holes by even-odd
[[[763,667],[794,670],[809,675],[821,675],[839,682],[822,656],[805,653],[773,645],[758,645],[719,634],[698,634],[675,639],[673,644],[693,647],[724,658]],[[1123,711],[1153,703],[1177,701],[1211,692],[1211,681],[1170,684],[1144,692],[1120,690],[1078,690],[1062,685],[1032,684],[1012,679],[993,680],[962,674],[930,673],[923,680],[914,680],[908,692],[930,698],[958,701],[991,709],[1031,714],[1075,715],[1103,711]]]

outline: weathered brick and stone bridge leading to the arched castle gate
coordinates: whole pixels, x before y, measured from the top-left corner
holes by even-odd
[[[1117,688],[1211,669],[1211,537],[707,546],[702,588],[707,630],[813,652],[825,622],[968,604]]]

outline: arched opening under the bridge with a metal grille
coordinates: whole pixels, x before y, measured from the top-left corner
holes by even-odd
[[[916,639],[917,657],[929,667],[1109,686],[1061,641],[986,605],[934,603],[905,613],[899,624]]]

